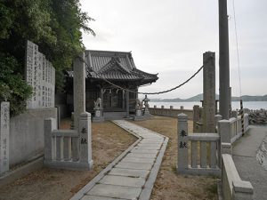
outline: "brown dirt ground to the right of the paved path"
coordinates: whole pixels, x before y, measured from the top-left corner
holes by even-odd
[[[214,200],[217,199],[216,179],[205,176],[184,176],[176,173],[177,119],[154,116],[134,122],[169,138],[165,156],[158,172],[150,200]],[[189,121],[189,132],[193,124]]]

